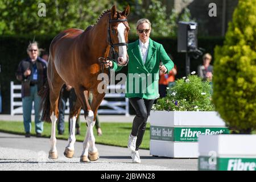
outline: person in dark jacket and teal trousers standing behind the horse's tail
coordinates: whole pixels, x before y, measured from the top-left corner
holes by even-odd
[[[16,71],[17,80],[22,82],[22,109],[25,137],[30,137],[31,133],[31,112],[32,102],[35,109],[35,130],[36,137],[41,137],[43,133],[43,122],[40,121],[39,105],[41,97],[39,90],[47,81],[47,65],[39,57],[38,43],[32,42],[27,47],[28,58],[20,61]]]

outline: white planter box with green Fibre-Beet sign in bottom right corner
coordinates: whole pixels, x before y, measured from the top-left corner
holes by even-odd
[[[199,170],[255,171],[256,135],[199,137]]]

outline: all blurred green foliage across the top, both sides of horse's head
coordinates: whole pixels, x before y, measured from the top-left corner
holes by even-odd
[[[38,12],[46,5],[46,16]],[[178,20],[191,20],[188,9],[180,16],[172,11],[170,16],[166,7],[159,0],[151,0],[149,7],[142,1],[129,0],[2,0],[0,1],[0,35],[56,35],[67,28],[86,27],[96,23],[101,13],[113,5],[123,10],[130,5],[130,35],[136,35],[136,22],[139,18],[148,18],[152,22],[152,36],[175,36]]]

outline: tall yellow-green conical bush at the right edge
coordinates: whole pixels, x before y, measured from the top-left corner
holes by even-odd
[[[240,1],[214,51],[213,102],[234,130],[256,127],[256,0]]]

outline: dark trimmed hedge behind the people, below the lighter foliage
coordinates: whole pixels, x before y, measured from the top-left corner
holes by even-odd
[[[36,36],[35,40],[39,43],[40,48],[47,49],[51,43],[52,36]],[[28,43],[34,39],[33,36],[0,36],[0,64],[1,64],[1,94],[2,94],[2,113],[10,113],[10,81],[16,81],[15,71],[19,61],[27,57],[26,48]],[[129,42],[134,42],[137,38],[130,38]],[[174,63],[177,65],[177,78],[185,75],[185,53],[177,53],[176,38],[152,38],[156,42],[162,43],[167,53],[171,53]],[[220,37],[203,37],[198,39],[199,47],[205,49],[213,55],[216,45],[222,45],[223,38]],[[214,60],[214,57],[213,57]],[[191,59],[191,71],[197,71],[197,65],[201,64],[202,59]],[[127,67],[122,70],[127,72]],[[133,114],[133,111],[131,111]]]

